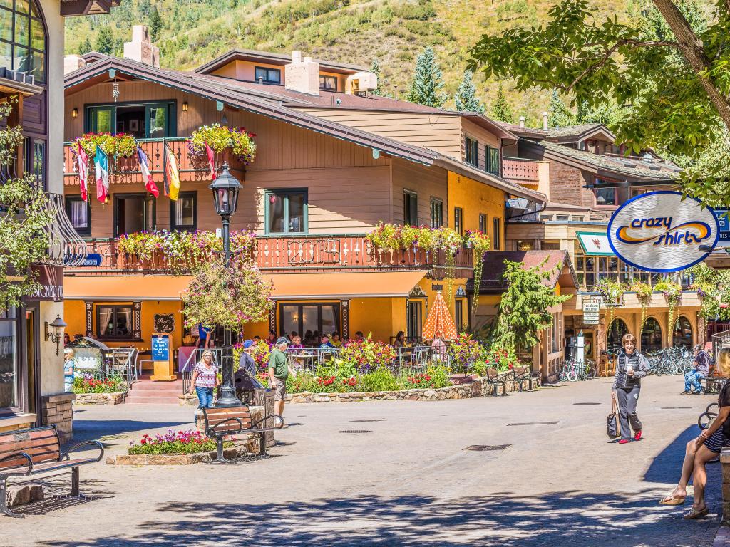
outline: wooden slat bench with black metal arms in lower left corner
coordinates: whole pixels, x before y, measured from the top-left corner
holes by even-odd
[[[71,459],[72,452],[82,446],[99,449],[99,455]],[[0,512],[9,516],[23,516],[7,508],[7,480],[12,477],[53,471],[62,471],[59,474],[71,473],[70,496],[84,497],[79,492],[79,467],[99,462],[102,457],[104,446],[97,441],[74,444],[68,451],[61,452],[61,441],[55,425],[0,433]]]

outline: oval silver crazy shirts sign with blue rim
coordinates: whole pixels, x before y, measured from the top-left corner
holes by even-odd
[[[616,209],[608,242],[625,263],[639,270],[670,272],[704,260],[720,236],[717,216],[680,192],[649,192]],[[700,249],[702,247],[702,250]]]

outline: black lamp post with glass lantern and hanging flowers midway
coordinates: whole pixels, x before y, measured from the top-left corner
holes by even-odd
[[[226,268],[231,263],[231,236],[228,225],[231,222],[231,215],[236,212],[238,204],[238,192],[241,190],[241,183],[228,172],[228,163],[223,163],[223,169],[218,174],[209,188],[213,191],[213,203],[215,212],[220,214],[223,221],[223,260]],[[240,406],[241,401],[236,397],[236,387],[233,381],[233,348],[231,346],[231,330],[223,329],[223,355],[222,374],[223,382],[220,386],[220,397],[216,406]]]

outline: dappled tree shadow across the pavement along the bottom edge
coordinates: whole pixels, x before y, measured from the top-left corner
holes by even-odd
[[[682,508],[657,505],[650,490],[534,497],[500,492],[454,500],[369,495],[282,504],[172,502],[157,511],[124,535],[42,545],[698,547],[712,544],[719,525],[715,516],[683,521]]]

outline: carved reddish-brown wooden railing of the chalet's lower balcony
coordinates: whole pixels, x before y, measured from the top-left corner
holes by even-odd
[[[66,275],[96,274],[180,274],[195,264],[172,266],[160,252],[151,260],[120,252],[115,239],[91,239],[86,242],[89,253],[101,255],[101,265],[66,268]],[[454,277],[473,276],[472,250],[458,249],[453,264],[447,264],[444,252],[423,249],[388,251],[374,249],[363,235],[302,236],[256,238],[251,257],[267,273],[353,272],[429,270],[434,279],[443,279],[449,268]]]

